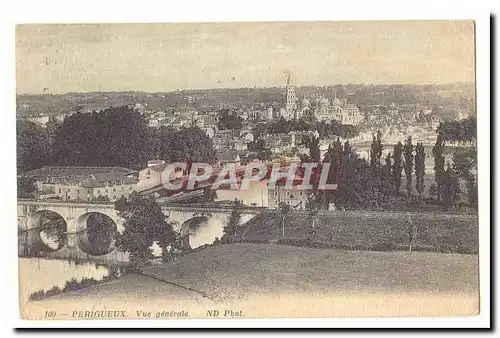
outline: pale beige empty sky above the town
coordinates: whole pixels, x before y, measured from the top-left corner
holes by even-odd
[[[474,81],[473,21],[32,24],[17,93]]]

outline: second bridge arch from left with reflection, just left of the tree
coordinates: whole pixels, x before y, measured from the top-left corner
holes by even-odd
[[[100,256],[114,250],[118,226],[110,216],[96,211],[86,212],[75,219],[73,229],[83,252]]]

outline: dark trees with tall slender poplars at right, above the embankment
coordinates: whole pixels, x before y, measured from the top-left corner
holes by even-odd
[[[455,150],[451,162],[445,163],[444,136],[439,133],[432,147],[434,157],[434,183],[425,186],[426,149],[422,143],[416,145],[409,136],[398,142],[392,151],[382,159],[381,133],[373,136],[369,161],[361,158],[351,147],[349,141],[337,139],[331,144],[324,156],[323,163],[330,163],[328,182],[337,183],[334,191],[313,190],[314,199],[323,207],[334,203],[337,207],[349,209],[371,209],[396,207],[404,201],[404,206],[422,206],[437,204],[450,209],[460,203],[460,180],[466,186],[466,205],[477,208],[476,149],[460,148]],[[463,139],[458,139],[460,142]],[[309,156],[302,158],[303,162],[319,163],[320,151],[318,139],[308,143]],[[402,179],[406,184],[402,187]],[[317,183],[319,177],[313,175]],[[317,186],[316,186],[317,187]],[[404,193],[401,195],[401,188]],[[414,196],[414,190],[417,195]],[[424,198],[428,189],[429,198]],[[404,197],[404,198],[403,198]]]

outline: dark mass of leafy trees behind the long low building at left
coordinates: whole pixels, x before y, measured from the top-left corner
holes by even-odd
[[[150,159],[214,163],[216,151],[201,129],[152,128],[127,106],[76,113],[47,128],[26,120],[17,124],[18,173],[45,165],[141,169]]]

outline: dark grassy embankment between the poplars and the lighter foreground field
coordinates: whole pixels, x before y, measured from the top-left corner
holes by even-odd
[[[285,219],[266,212],[246,224],[243,242],[269,242],[299,246],[391,251],[409,249],[409,230],[415,227],[413,250],[476,254],[478,218],[475,215],[369,211],[322,212],[316,216],[314,235],[305,211],[292,211]]]

